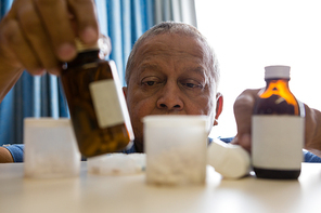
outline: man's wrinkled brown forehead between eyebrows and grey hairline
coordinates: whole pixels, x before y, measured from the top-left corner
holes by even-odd
[[[162,63],[177,58],[185,71],[200,72],[203,76],[213,76],[209,55],[205,44],[197,38],[178,34],[160,34],[146,38],[138,49],[136,55],[136,70],[162,70]],[[138,71],[138,72],[140,72]]]

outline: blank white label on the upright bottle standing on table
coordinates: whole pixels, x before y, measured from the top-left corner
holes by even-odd
[[[303,117],[253,116],[253,167],[269,170],[299,170],[304,157],[304,130]]]

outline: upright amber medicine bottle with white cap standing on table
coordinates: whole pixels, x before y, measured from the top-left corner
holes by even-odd
[[[265,68],[267,85],[252,117],[252,163],[257,177],[293,179],[300,174],[305,109],[288,88],[290,67]]]

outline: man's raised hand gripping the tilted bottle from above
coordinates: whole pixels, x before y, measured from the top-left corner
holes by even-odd
[[[75,36],[88,44],[98,40],[93,0],[15,0],[0,23],[1,66],[59,75],[59,62],[77,54]]]

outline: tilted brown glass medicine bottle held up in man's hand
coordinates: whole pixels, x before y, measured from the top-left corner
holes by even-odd
[[[119,151],[133,133],[115,63],[100,56],[99,42],[76,44],[78,55],[63,65],[61,80],[78,148],[85,157]]]

